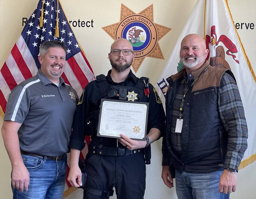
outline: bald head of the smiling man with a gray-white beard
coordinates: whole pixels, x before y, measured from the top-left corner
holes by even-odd
[[[200,68],[207,57],[209,50],[206,49],[204,39],[198,34],[188,34],[180,44],[180,61],[190,71]]]

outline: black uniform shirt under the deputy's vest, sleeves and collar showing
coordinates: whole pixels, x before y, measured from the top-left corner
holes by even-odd
[[[106,76],[106,80],[110,86],[135,86],[137,81],[140,79],[136,77],[132,71],[130,71],[128,77],[124,80],[124,82],[115,83],[110,77],[111,70],[108,71],[108,75]],[[149,84],[149,109],[148,109],[148,131],[151,128],[156,128],[164,132],[164,122],[165,122],[165,114],[164,108],[161,103],[161,100],[156,93],[153,85]],[[85,130],[85,125],[87,125],[86,118],[90,116],[92,112],[97,112],[100,109],[100,89],[99,85],[96,81],[90,82],[84,88],[84,92],[78,102],[76,107],[76,114],[74,116],[73,121],[73,130],[70,137],[70,148],[74,148],[77,150],[83,150],[84,136],[87,134]],[[136,101],[136,100],[134,100]],[[108,138],[108,137],[99,137],[96,136],[97,132],[94,132],[94,135],[91,136],[91,143],[94,145],[100,145],[106,147],[116,147],[117,140],[116,138]],[[123,147],[122,144],[118,142],[118,147]]]

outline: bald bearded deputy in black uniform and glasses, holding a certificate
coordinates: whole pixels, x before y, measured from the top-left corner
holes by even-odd
[[[106,77],[97,76],[97,80],[89,83],[77,105],[70,138],[68,180],[74,187],[81,185],[78,158],[85,146],[84,136],[91,135],[85,160],[87,180],[84,198],[108,198],[113,195],[113,187],[117,198],[143,198],[146,186],[145,163],[150,164],[149,144],[159,139],[163,132],[164,109],[155,88],[148,84],[148,78],[138,78],[130,70],[134,54],[128,40],[116,40],[108,56],[112,70],[109,70]],[[96,136],[100,100],[111,97],[109,93],[120,87],[127,89],[125,100],[149,102],[146,141],[131,140],[122,134],[120,139]]]

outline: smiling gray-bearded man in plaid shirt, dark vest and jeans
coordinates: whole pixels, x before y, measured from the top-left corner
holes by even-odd
[[[196,34],[183,38],[183,70],[167,78],[162,178],[178,198],[229,198],[247,149],[244,108],[232,72],[210,66]]]

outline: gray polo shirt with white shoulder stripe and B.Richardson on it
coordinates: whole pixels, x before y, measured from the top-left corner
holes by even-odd
[[[11,92],[4,120],[21,123],[20,149],[46,156],[69,152],[68,144],[77,104],[76,91],[60,77],[59,87],[41,70]]]

